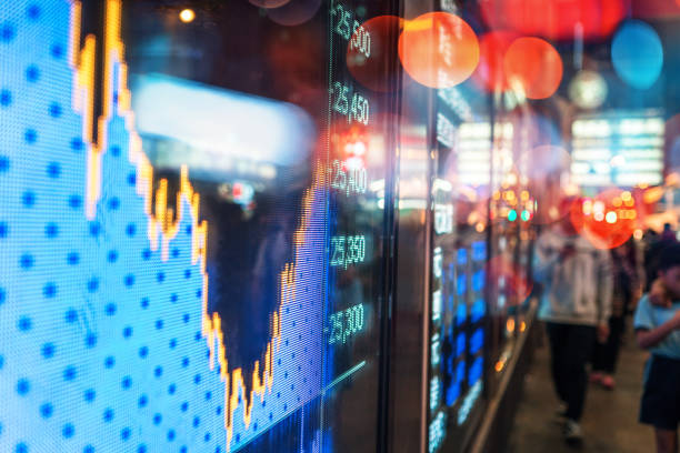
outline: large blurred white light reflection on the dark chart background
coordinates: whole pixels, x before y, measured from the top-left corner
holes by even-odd
[[[132,91],[139,132],[187,144],[198,157],[194,169],[230,159],[291,165],[309,157],[313,125],[293,104],[160,74],[134,78]]]

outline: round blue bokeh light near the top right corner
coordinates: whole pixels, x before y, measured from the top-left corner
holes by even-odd
[[[611,61],[621,80],[633,88],[646,90],[654,84],[661,74],[661,40],[649,24],[630,20],[614,36]]]

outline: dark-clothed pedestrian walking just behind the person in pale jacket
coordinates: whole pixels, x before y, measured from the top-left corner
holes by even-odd
[[[638,274],[638,259],[633,239],[611,251],[613,291],[609,336],[606,342],[597,342],[592,356],[590,382],[613,390],[613,373],[619,350],[626,331],[626,316],[639,296],[641,275]]]

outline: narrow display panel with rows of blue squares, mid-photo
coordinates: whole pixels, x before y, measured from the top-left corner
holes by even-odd
[[[487,212],[490,141],[469,144],[469,89],[439,89],[430,294],[428,451],[467,451],[474,415],[483,407],[488,364]],[[480,128],[476,128],[480,129]],[[483,132],[482,132],[483,133]],[[491,132],[488,132],[491,137]],[[470,148],[473,152],[469,152]]]

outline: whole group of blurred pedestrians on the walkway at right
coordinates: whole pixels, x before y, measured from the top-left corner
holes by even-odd
[[[628,319],[646,363],[640,423],[654,429],[657,452],[677,453],[680,422],[680,243],[670,224],[641,241],[603,250],[567,218],[537,241],[539,319],[550,344],[564,440],[580,445],[589,384],[614,390]]]

